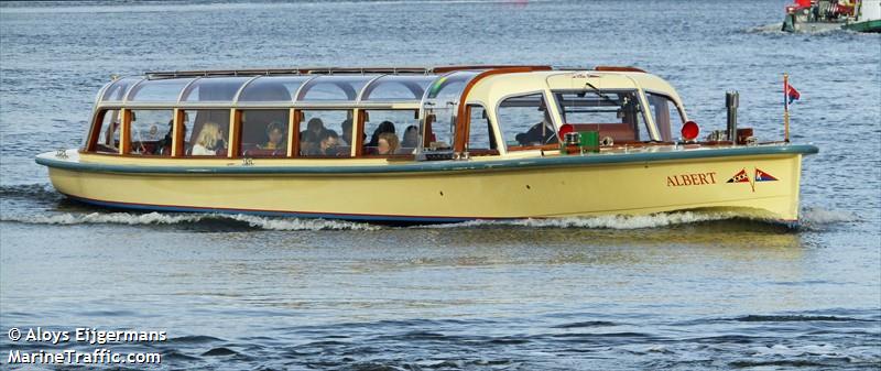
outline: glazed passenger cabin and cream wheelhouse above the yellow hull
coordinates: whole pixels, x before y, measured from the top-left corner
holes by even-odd
[[[631,67],[296,68],[157,72],[98,94],[81,153],[174,159],[535,155],[559,133],[608,146],[673,140],[687,118]]]

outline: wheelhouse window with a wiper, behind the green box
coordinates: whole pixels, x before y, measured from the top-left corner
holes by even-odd
[[[614,143],[652,140],[635,90],[555,92],[564,123]]]

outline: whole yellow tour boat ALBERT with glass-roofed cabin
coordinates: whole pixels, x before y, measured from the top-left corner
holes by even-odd
[[[733,98],[727,128],[698,140],[673,87],[633,67],[156,72],[107,84],[81,146],[36,162],[67,197],[126,209],[797,221],[817,148],[758,141]]]

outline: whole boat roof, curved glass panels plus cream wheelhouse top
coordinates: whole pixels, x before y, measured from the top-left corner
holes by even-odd
[[[468,65],[438,67],[295,67],[148,72],[116,78],[99,92],[102,105],[323,105],[401,103],[458,98],[478,75],[521,74],[519,80],[541,79],[551,88],[570,86],[573,78],[621,76],[616,87],[637,80],[672,90],[662,79],[634,67],[553,67],[546,65]],[[486,78],[481,85],[502,80]],[[523,80],[526,79],[526,80]],[[555,81],[559,80],[558,84]],[[621,86],[627,81],[629,86]],[[659,83],[660,81],[660,83]],[[533,81],[534,83],[534,81]],[[642,85],[640,83],[640,85]],[[607,87],[603,84],[603,89]],[[544,85],[542,85],[544,86]],[[611,85],[610,85],[611,86]],[[674,92],[675,94],[675,92]],[[455,98],[454,98],[455,97]],[[678,98],[678,97],[676,97]],[[677,99],[678,100],[678,99]]]

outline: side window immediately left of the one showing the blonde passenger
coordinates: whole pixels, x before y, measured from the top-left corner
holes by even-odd
[[[157,156],[172,154],[172,138],[174,138],[172,110],[132,110],[130,128],[129,154]]]

